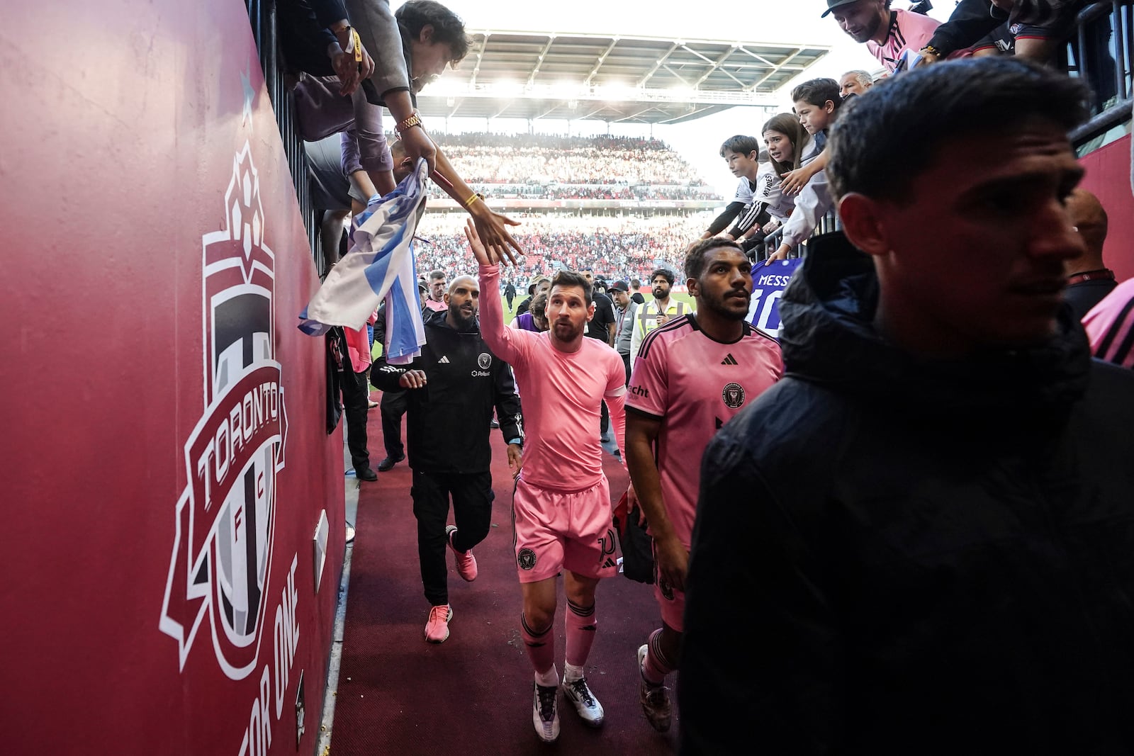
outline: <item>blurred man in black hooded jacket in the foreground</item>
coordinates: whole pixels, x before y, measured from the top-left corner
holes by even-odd
[[[1085,99],[949,62],[835,126],[846,237],[702,461],[683,754],[1134,753],[1134,374],[1060,297]]]

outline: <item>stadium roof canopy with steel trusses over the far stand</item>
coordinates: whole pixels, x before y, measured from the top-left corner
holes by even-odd
[[[822,45],[469,31],[468,57],[418,95],[424,116],[678,124],[772,94]]]

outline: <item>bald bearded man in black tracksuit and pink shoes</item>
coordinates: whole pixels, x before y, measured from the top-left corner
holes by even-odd
[[[498,288],[488,288],[499,303]],[[508,465],[519,469],[524,443],[523,418],[516,384],[508,365],[481,337],[476,321],[480,288],[471,275],[460,275],[445,295],[448,309],[428,313],[425,345],[408,366],[375,363],[374,384],[405,389],[407,443],[414,472],[414,516],[417,518],[417,558],[425,598],[430,603],[425,639],[449,637],[448,568],[445,549],[452,550],[457,574],[476,578],[472,549],[489,534],[492,516],[492,475],[489,466],[489,422],[496,409],[500,432],[508,442]],[[446,525],[449,498],[456,525]]]

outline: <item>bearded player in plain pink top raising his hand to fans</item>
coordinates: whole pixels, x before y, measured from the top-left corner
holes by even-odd
[[[480,263],[481,290],[498,291],[496,261],[503,250],[485,249],[471,223],[465,235]],[[617,571],[610,486],[596,431],[606,400],[618,449],[624,449],[626,373],[617,351],[584,338],[594,315],[591,294],[579,273],[556,273],[545,311],[551,328],[541,333],[506,328],[499,297],[481,301],[481,334],[513,366],[527,427],[513,523],[524,598],[521,632],[535,668],[532,721],[547,742],[559,737],[551,627],[560,571],[567,593],[562,691],[585,723],[599,727],[603,717],[583,676],[596,626],[594,589],[600,578]]]

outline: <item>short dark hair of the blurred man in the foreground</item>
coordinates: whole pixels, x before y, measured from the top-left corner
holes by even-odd
[[[923,66],[846,103],[831,127],[827,176],[836,197],[908,198],[909,185],[950,139],[1010,134],[1036,119],[1070,130],[1088,118],[1078,79],[1012,58]]]

